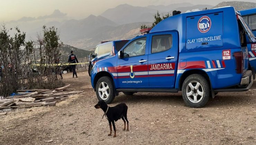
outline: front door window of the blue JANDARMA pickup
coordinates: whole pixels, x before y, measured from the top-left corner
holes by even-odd
[[[146,37],[137,39],[131,42],[125,49],[124,49],[124,57],[132,57],[132,56],[139,56],[145,55],[146,49]]]

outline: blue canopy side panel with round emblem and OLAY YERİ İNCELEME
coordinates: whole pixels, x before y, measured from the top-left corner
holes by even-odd
[[[186,50],[223,46],[223,12],[187,17]]]

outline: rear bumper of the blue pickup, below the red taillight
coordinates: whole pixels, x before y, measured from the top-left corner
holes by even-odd
[[[247,91],[253,85],[252,71],[247,70],[242,76],[241,83],[239,86],[234,86],[225,89],[215,89],[214,92],[236,92],[236,91]]]

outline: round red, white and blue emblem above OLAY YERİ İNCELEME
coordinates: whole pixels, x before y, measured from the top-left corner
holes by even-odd
[[[199,19],[197,27],[201,33],[206,33],[210,30],[211,25],[211,19],[207,16],[203,16]]]

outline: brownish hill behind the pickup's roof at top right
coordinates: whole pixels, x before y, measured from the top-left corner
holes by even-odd
[[[219,8],[219,7],[226,7],[226,6],[232,6],[237,11],[245,10],[245,9],[251,9],[256,7],[256,3],[254,2],[244,2],[244,1],[228,1],[228,2],[221,2],[217,4],[217,6],[213,8]]]

